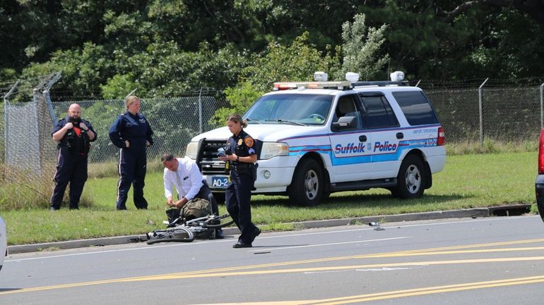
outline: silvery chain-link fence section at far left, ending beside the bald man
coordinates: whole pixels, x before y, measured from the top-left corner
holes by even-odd
[[[10,101],[13,86],[4,95],[0,124],[0,204],[2,208],[35,206],[48,197],[57,166],[56,144],[51,140],[52,118],[48,87],[40,83],[28,101],[25,94]],[[43,89],[43,90],[40,90]],[[44,139],[49,139],[45,141]],[[20,198],[19,202],[6,201]]]

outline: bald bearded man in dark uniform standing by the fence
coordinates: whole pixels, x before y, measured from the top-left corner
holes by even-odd
[[[51,195],[51,211],[61,208],[64,191],[70,183],[70,209],[79,208],[79,199],[87,181],[87,163],[90,142],[95,141],[96,132],[87,120],[81,119],[81,106],[71,104],[65,118],[55,123],[51,132],[59,142],[55,186]]]

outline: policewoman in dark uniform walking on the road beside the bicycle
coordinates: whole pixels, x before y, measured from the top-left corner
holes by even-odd
[[[232,247],[248,248],[261,230],[252,223],[252,210],[249,200],[252,197],[254,186],[254,172],[257,155],[254,147],[254,139],[244,132],[243,127],[247,123],[237,114],[227,118],[227,127],[232,132],[228,139],[227,155],[220,156],[221,161],[230,162],[230,184],[225,192],[225,205],[227,211],[235,221],[242,234],[238,242]]]

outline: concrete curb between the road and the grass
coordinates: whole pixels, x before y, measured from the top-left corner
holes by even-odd
[[[497,211],[510,210],[525,210],[530,209],[531,204],[519,204],[516,206],[494,206],[491,208],[466,208],[461,210],[451,211],[433,211],[424,213],[406,213],[396,215],[381,215],[381,216],[366,216],[357,218],[342,218],[342,219],[330,219],[330,220],[310,220],[301,221],[295,223],[288,223],[294,228],[310,229],[310,228],[325,228],[325,227],[338,227],[342,225],[354,225],[360,223],[393,223],[400,221],[414,221],[414,220],[432,220],[442,218],[480,218],[496,215]],[[238,228],[225,228],[223,229],[225,235],[237,235],[240,234]],[[8,251],[10,254],[45,251],[54,249],[73,249],[82,247],[102,247],[114,244],[128,244],[131,242],[145,241],[146,235],[130,235],[130,236],[117,236],[117,237],[101,237],[92,239],[76,239],[66,242],[45,242],[40,244],[21,244],[9,246]]]

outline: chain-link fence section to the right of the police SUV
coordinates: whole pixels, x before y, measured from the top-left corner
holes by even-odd
[[[543,126],[542,89],[536,80],[425,82],[447,143],[535,142]]]

